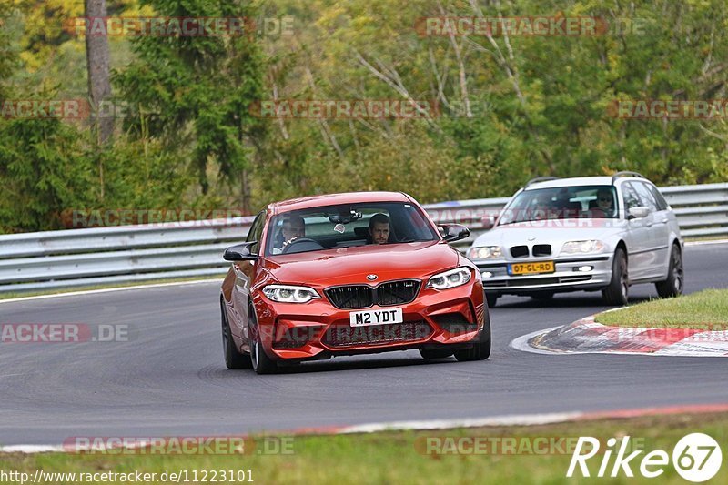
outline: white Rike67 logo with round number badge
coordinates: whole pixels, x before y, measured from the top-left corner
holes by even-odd
[[[571,455],[567,477],[573,477],[578,470],[581,476],[590,477],[587,461],[602,454],[602,461],[597,471],[597,477],[618,477],[621,473],[626,477],[633,477],[632,466],[638,467],[643,477],[653,479],[664,473],[672,458],[672,466],[685,480],[702,482],[712,479],[723,462],[723,452],[718,442],[703,433],[692,433],[682,437],[672,449],[672,457],[664,450],[654,450],[645,454],[642,460],[635,460],[644,450],[632,451],[630,449],[630,437],[625,436],[622,441],[616,438],[607,440],[606,450],[600,453],[600,441],[591,436],[580,437],[576,443],[576,449]],[[612,455],[616,456],[612,462]],[[639,463],[639,465],[638,465]],[[611,469],[610,469],[610,465]],[[578,474],[577,474],[578,475]]]

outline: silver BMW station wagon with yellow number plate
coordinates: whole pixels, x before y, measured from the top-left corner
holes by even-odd
[[[486,298],[552,298],[602,291],[627,303],[630,286],[654,283],[661,298],[682,294],[682,237],[657,187],[635,172],[612,177],[539,177],[522,187],[468,250]]]

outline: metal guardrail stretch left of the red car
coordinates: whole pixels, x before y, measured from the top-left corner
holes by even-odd
[[[221,275],[253,217],[0,236],[0,293]]]

